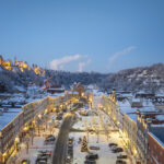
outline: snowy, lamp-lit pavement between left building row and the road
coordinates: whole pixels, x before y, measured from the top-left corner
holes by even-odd
[[[22,160],[30,160],[31,164],[35,164],[37,154],[39,150],[54,150],[54,144],[45,145],[45,136],[54,134],[56,138],[58,136],[59,129],[55,128],[54,131],[49,129],[40,130],[39,136],[38,131],[35,130],[33,144],[32,144],[32,137],[24,138],[24,141],[21,143],[20,150],[14,151],[11,157],[8,160],[7,164],[21,164]],[[51,163],[51,159],[49,159],[48,164]]]

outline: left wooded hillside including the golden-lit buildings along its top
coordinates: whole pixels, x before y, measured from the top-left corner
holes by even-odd
[[[0,92],[14,92],[16,86],[26,89],[30,84],[43,86],[45,80],[49,80],[51,85],[60,84],[69,87],[74,82],[84,85],[101,84],[102,79],[107,74],[96,72],[66,72],[45,70],[37,65],[28,66],[26,61],[5,60],[0,55]],[[16,87],[17,89],[17,87]]]

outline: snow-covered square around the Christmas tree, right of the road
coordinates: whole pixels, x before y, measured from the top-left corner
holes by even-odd
[[[119,137],[119,132],[113,131],[114,128],[110,126],[108,118],[103,115],[104,124],[102,124],[102,120],[99,116],[81,116],[81,120],[79,120],[73,128],[84,130],[86,128],[97,128],[99,130],[99,133],[96,134],[95,132],[90,132],[87,136],[87,132],[70,132],[69,137],[74,138],[74,145],[73,145],[73,164],[82,164],[85,161],[86,152],[81,152],[81,143],[79,143],[79,138],[83,138],[84,136],[87,139],[89,148],[91,145],[99,147],[99,150],[90,150],[91,152],[98,154],[98,160],[96,161],[96,164],[116,164],[117,156],[119,154],[126,154],[122,153],[113,153],[110,148],[108,147],[108,143],[117,143],[118,147],[122,148],[122,141]],[[104,125],[108,126],[108,137],[105,131]],[[87,138],[89,137],[89,138]],[[129,160],[124,160],[127,162],[127,164],[130,164]]]

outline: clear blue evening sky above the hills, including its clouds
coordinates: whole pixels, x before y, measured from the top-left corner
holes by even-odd
[[[163,0],[0,0],[0,54],[69,71],[164,62]]]

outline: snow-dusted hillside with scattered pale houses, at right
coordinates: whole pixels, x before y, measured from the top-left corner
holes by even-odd
[[[151,67],[139,67],[121,70],[117,73],[109,73],[102,81],[101,87],[108,91],[113,87],[124,91],[164,91],[164,63],[156,63]]]

